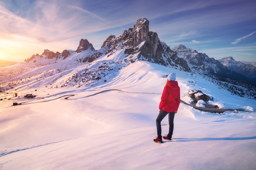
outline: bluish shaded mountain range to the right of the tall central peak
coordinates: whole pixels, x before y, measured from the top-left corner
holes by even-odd
[[[205,53],[198,53],[196,50],[186,48],[180,44],[173,48],[177,56],[186,60],[190,68],[198,71],[206,71],[220,77],[241,79],[256,83],[256,67],[252,64],[237,62],[233,57],[225,57],[215,60]]]

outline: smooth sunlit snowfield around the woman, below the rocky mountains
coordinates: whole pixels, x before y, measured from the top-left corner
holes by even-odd
[[[210,104],[248,112],[208,113],[181,103],[174,118],[173,140],[154,143],[164,75],[171,72],[177,73],[181,96],[186,101],[189,90],[198,89],[214,97]],[[64,75],[52,78],[58,76]],[[33,86],[37,91],[24,87],[13,92],[36,94],[35,99],[14,97],[0,101],[1,170],[256,167],[255,100],[231,95],[200,75],[137,61],[106,83],[94,86]],[[0,98],[13,96],[0,93]],[[22,104],[12,106],[13,102]],[[165,117],[162,135],[167,133]]]

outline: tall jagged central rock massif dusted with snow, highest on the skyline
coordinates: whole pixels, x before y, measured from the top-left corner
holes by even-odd
[[[138,60],[146,60],[164,66],[175,66],[184,71],[190,71],[185,60],[177,57],[170,47],[160,42],[157,33],[149,31],[149,21],[146,18],[137,20],[133,28],[125,30],[118,38],[115,35],[110,35],[101,49],[104,48],[105,52],[112,55],[117,47],[124,49],[124,53],[127,55],[137,55]]]

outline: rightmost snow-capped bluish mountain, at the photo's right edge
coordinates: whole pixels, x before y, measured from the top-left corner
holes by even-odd
[[[233,57],[224,57],[218,61],[231,71],[240,73],[248,78],[256,79],[256,66],[252,64],[245,64],[243,62],[236,61]]]

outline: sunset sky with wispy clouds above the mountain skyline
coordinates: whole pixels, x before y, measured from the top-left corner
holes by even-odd
[[[76,50],[82,38],[98,50],[146,18],[171,49],[256,62],[255,11],[255,0],[0,0],[0,60]]]

